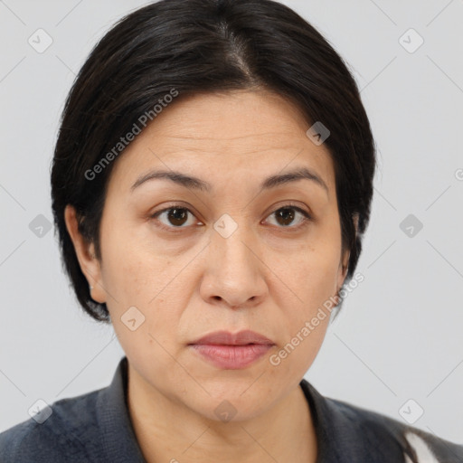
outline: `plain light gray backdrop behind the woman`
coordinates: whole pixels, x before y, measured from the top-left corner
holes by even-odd
[[[379,147],[373,215],[347,298],[307,379],[328,397],[463,443],[461,156],[463,2],[284,1],[354,71]],[[111,327],[80,313],[53,230],[49,168],[64,99],[91,47],[146,2],[0,1],[0,430],[109,384],[124,354]],[[38,53],[28,38],[53,43]],[[424,39],[415,52],[400,37]],[[410,37],[410,38],[408,38]],[[407,33],[402,41],[416,44]],[[459,170],[458,170],[459,169]],[[422,230],[400,223],[413,214]],[[418,405],[417,405],[418,404]],[[403,409],[402,409],[403,410]]]

